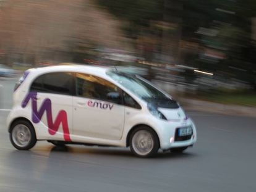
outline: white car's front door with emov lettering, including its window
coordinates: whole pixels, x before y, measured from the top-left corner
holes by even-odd
[[[124,128],[124,106],[119,88],[103,78],[75,74],[74,135],[120,140]]]

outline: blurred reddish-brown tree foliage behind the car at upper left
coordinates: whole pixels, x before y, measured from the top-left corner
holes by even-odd
[[[82,61],[95,46],[126,44],[119,22],[90,0],[9,0],[0,10],[6,64]]]

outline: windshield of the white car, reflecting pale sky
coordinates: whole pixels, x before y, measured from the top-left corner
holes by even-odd
[[[132,91],[132,93],[141,99],[147,101],[149,99],[169,99],[165,94],[148,84],[140,77],[116,72],[108,72],[107,75],[129,91]]]

